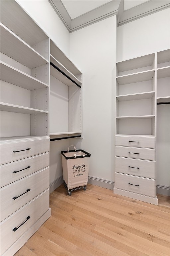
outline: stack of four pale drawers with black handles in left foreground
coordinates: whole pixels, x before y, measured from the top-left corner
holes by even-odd
[[[50,216],[49,137],[3,139],[0,161],[0,255],[12,255],[21,236]]]

